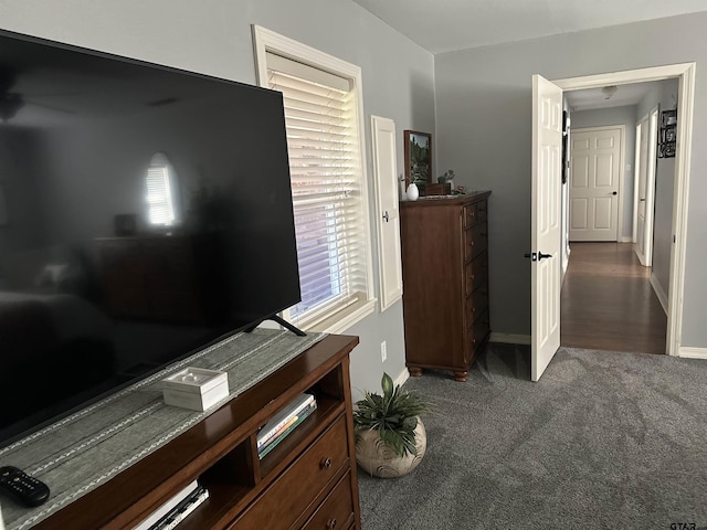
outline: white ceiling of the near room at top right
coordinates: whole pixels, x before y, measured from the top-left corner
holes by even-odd
[[[354,0],[437,54],[707,11],[705,0]]]

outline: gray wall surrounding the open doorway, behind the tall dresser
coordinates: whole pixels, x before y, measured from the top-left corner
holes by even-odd
[[[460,184],[490,189],[492,328],[530,332],[531,76],[549,80],[697,62],[683,346],[707,347],[707,13],[435,56],[436,155]]]

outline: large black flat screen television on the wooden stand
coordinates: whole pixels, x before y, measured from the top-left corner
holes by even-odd
[[[279,93],[0,32],[0,447],[299,299]]]

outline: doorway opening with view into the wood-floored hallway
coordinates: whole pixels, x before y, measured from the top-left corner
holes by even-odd
[[[677,89],[677,80],[672,78],[614,86],[611,98],[603,97],[600,91],[566,93],[571,113],[568,176],[571,255],[561,293],[562,346],[666,351],[667,267],[664,275],[654,275],[650,261],[658,166],[655,124],[657,106],[674,105]],[[664,160],[659,165],[663,180],[672,184],[674,166]],[[672,246],[672,189],[658,190],[662,204],[658,225],[666,230],[658,230],[656,248],[666,262]],[[619,223],[618,231],[611,233],[591,230],[592,223],[584,218],[600,229],[615,226],[608,212],[610,206],[618,208],[616,202],[624,209],[619,214],[623,226]],[[591,211],[594,203],[597,211],[604,204],[602,218]],[[600,241],[614,244],[580,243]]]

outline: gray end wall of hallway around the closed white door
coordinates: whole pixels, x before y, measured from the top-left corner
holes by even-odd
[[[635,168],[635,146],[636,146],[636,106],[630,105],[624,107],[601,108],[595,110],[572,112],[571,129],[581,129],[584,127],[604,127],[611,125],[625,126],[624,139],[624,180],[623,197],[621,198],[623,206],[623,218],[621,221],[621,234],[619,241],[631,241],[633,235],[633,187]],[[626,170],[626,166],[631,166],[631,171]]]

